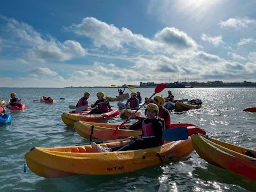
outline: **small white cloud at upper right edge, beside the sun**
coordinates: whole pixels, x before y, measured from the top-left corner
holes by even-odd
[[[250,19],[248,17],[244,18],[230,18],[226,21],[221,21],[218,23],[220,27],[229,27],[229,28],[235,28],[235,29],[242,29],[242,28],[248,28],[249,25],[255,25],[256,20],[255,19]]]

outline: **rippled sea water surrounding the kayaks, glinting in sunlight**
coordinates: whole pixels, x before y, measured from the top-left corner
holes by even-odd
[[[175,99],[202,99],[201,109],[175,113],[172,123],[193,123],[206,130],[210,137],[249,148],[256,148],[256,113],[243,111],[256,106],[256,88],[193,88],[171,89]],[[95,176],[75,175],[61,179],[45,179],[27,169],[23,173],[24,155],[32,147],[70,146],[89,142],[61,121],[61,114],[76,105],[85,91],[117,95],[117,89],[13,89],[0,88],[0,100],[9,100],[17,93],[26,104],[23,111],[6,111],[13,121],[0,127],[0,191],[256,191],[256,184],[229,171],[209,165],[195,151],[186,157],[132,173]],[[134,89],[142,98],[150,97],[153,88]],[[157,95],[167,95],[167,89]],[[130,92],[125,90],[125,92]],[[56,102],[39,102],[42,95]],[[65,100],[60,100],[65,98]],[[117,102],[111,102],[116,107]],[[122,123],[115,118],[109,122]],[[256,173],[255,173],[256,174]]]

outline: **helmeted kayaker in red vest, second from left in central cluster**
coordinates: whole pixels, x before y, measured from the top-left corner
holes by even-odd
[[[102,114],[107,113],[108,109],[111,109],[109,102],[107,99],[104,98],[103,92],[98,92],[97,94],[98,100],[91,105],[91,107],[96,107],[92,109],[89,114]]]

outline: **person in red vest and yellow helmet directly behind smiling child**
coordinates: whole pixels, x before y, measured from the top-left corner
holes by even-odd
[[[169,113],[169,110],[167,110],[163,105],[164,105],[164,98],[162,98],[161,96],[156,96],[153,99],[153,102],[158,106],[159,108],[159,113],[158,113],[158,117],[161,118],[164,123],[163,123],[163,128],[165,129],[169,129],[170,125],[171,125],[171,115]],[[132,113],[131,116],[134,119],[138,119],[139,122],[142,122],[143,119],[145,119],[145,117],[138,117],[135,113]],[[141,128],[142,124],[136,122],[133,125],[131,125],[128,129],[129,130],[138,130]]]

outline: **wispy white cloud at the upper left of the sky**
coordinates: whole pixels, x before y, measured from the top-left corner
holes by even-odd
[[[70,60],[83,57],[87,51],[76,41],[66,40],[61,43],[48,35],[43,38],[33,27],[27,23],[18,22],[14,19],[5,18],[7,33],[14,34],[15,46],[21,46],[30,59],[39,60]]]

